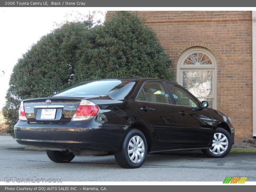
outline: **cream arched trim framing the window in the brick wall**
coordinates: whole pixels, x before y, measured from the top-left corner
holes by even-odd
[[[193,52],[203,52],[205,53],[211,60],[212,60],[212,65],[183,65],[185,59],[187,56]],[[182,71],[187,71],[187,70],[212,70],[212,108],[217,109],[217,75],[218,75],[218,69],[217,69],[217,60],[215,56],[213,55],[212,52],[209,50],[203,48],[203,47],[193,47],[185,52],[183,52],[180,55],[180,58],[178,60],[177,64],[177,82],[182,86]]]

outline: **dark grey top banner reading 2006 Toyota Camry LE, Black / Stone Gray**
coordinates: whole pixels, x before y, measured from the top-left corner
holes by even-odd
[[[5,0],[0,7],[256,7],[253,0]]]

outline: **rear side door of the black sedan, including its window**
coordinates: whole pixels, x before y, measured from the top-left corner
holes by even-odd
[[[162,81],[144,83],[135,99],[135,106],[150,127],[156,145],[178,145],[180,126],[178,110],[171,102]]]

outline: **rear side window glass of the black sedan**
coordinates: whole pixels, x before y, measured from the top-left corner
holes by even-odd
[[[144,95],[144,93],[145,95]],[[137,100],[144,101],[144,98],[148,102],[154,103],[167,103],[170,104],[169,95],[164,88],[164,84],[162,82],[150,81],[144,84],[140,94],[138,95]]]

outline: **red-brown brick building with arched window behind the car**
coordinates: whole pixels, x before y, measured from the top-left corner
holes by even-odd
[[[256,136],[251,11],[136,11],[173,61],[176,81],[228,115],[236,140]],[[109,19],[115,12],[106,14]],[[254,20],[252,20],[254,18]],[[256,47],[255,47],[256,48]],[[253,56],[254,55],[254,56]],[[256,81],[256,80],[255,80]],[[256,83],[254,84],[256,86]],[[256,95],[256,94],[255,94]],[[256,102],[254,102],[255,104]],[[255,123],[253,126],[253,114]]]

